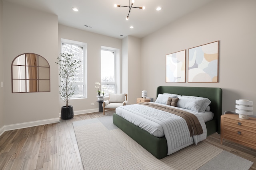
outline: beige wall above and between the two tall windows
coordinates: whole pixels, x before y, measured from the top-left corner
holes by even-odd
[[[100,49],[101,46],[112,47],[116,49],[122,49],[122,40],[108,37],[64,25],[59,25],[58,28],[58,41],[59,41],[59,53],[60,53],[60,39],[69,39],[73,41],[79,41],[87,43],[87,98],[70,100],[70,105],[74,107],[74,112],[86,113],[98,110],[98,103],[96,97],[95,82],[101,81],[100,76]],[[120,74],[120,73],[119,73]],[[63,106],[64,102],[59,100],[60,105]],[[94,106],[90,104],[94,103]],[[74,113],[76,114],[76,113]]]

